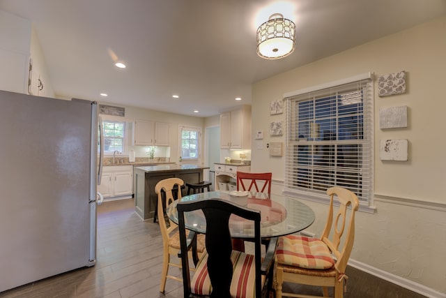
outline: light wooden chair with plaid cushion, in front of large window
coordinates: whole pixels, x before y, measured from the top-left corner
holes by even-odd
[[[297,235],[279,237],[275,270],[277,298],[282,298],[282,295],[314,297],[284,293],[284,282],[321,286],[323,297],[328,297],[328,287],[334,288],[334,298],[342,298],[344,295],[347,278],[345,270],[355,238],[355,212],[359,207],[359,200],[346,188],[328,188],[327,194],[330,196],[330,207],[320,239]],[[337,214],[333,214],[335,197],[340,204]],[[349,212],[348,206],[351,206]],[[341,242],[343,246],[339,249]]]

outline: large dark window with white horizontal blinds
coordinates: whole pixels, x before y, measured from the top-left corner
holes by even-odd
[[[369,201],[373,83],[360,80],[285,98],[285,191],[326,198],[327,188]]]

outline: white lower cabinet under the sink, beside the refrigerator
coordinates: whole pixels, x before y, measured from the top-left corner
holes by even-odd
[[[131,197],[133,194],[133,166],[110,165],[102,168],[98,192],[104,198]]]

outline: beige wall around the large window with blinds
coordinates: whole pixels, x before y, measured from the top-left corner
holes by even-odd
[[[284,142],[270,137],[271,121],[284,114],[269,114],[272,100],[299,89],[372,72],[376,77],[405,70],[406,94],[374,96],[374,205],[375,214],[358,212],[352,262],[415,288],[427,287],[446,294],[446,137],[444,96],[446,69],[446,17],[392,36],[341,52],[282,73],[253,85],[252,131],[263,131],[263,144]],[[299,41],[298,41],[299,43]],[[299,54],[299,47],[295,54]],[[408,127],[381,130],[380,108],[408,106]],[[383,162],[379,144],[383,139],[407,139],[409,160]],[[272,171],[280,193],[284,158],[271,158],[268,149],[252,144],[252,170]],[[308,204],[316,223],[308,230],[321,234],[326,205]],[[415,282],[415,284],[413,283]],[[425,289],[426,290],[426,289]]]

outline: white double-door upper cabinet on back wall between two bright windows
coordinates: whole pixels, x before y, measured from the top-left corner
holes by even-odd
[[[169,146],[169,124],[148,120],[134,121],[133,144]]]

